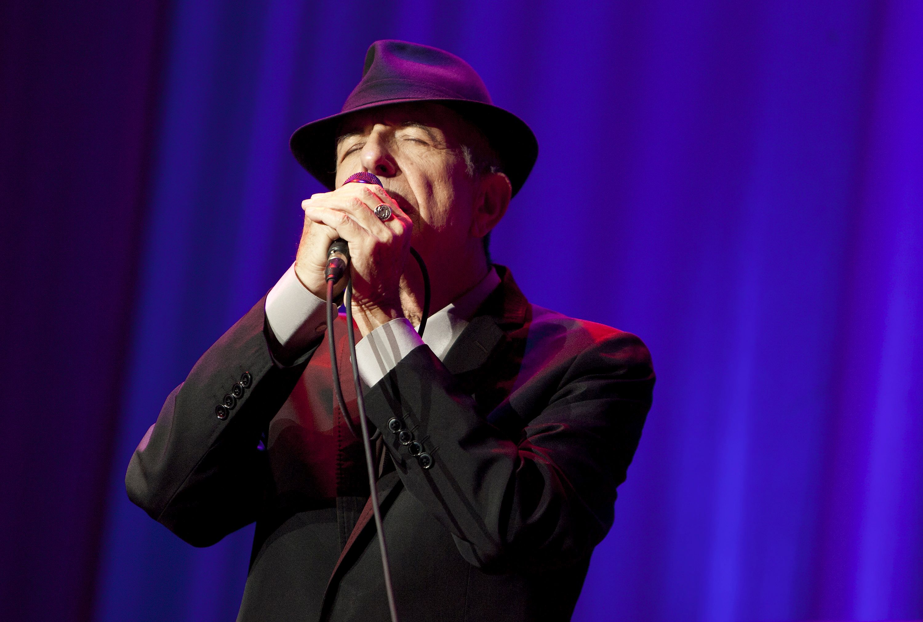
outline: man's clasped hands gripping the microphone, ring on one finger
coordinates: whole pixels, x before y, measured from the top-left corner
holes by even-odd
[[[373,211],[382,203],[392,212],[385,222]],[[342,238],[349,243],[353,315],[362,335],[403,317],[399,286],[413,223],[397,201],[379,185],[351,183],[312,195],[301,207],[305,228],[294,269],[306,288],[321,299],[327,297],[327,249],[333,240]],[[344,283],[338,283],[337,295]]]

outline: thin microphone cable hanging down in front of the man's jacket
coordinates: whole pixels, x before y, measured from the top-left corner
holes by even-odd
[[[332,254],[335,250],[336,252],[339,252],[348,258],[349,250],[345,244],[334,248],[338,242],[341,241],[338,240],[330,246],[330,254]],[[414,256],[414,259],[416,259],[417,264],[420,266],[420,272],[423,275],[423,315],[420,317],[420,325],[417,328],[418,334],[423,337],[423,331],[426,329],[426,319],[429,317],[429,302],[431,295],[429,286],[429,272],[426,270],[426,263],[424,262],[423,257],[420,257],[420,254],[416,251],[416,249],[411,247],[410,253],[412,256]],[[350,432],[353,433],[354,437],[362,437],[362,446],[366,452],[366,471],[368,472],[369,496],[370,501],[372,502],[372,514],[375,517],[375,529],[378,532],[378,548],[381,551],[381,568],[384,572],[385,578],[385,593],[388,596],[388,609],[390,611],[391,622],[398,622],[397,606],[394,603],[394,589],[391,586],[388,544],[385,543],[385,531],[381,522],[381,510],[378,508],[378,478],[376,476],[375,461],[372,455],[372,437],[369,437],[368,435],[368,423],[366,422],[366,400],[363,397],[362,382],[359,377],[359,364],[355,354],[352,274],[345,274],[348,281],[346,281],[346,290],[343,293],[343,306],[346,309],[346,341],[349,343],[350,362],[353,366],[353,383],[355,387],[356,407],[359,411],[359,425],[361,428],[360,433],[356,432],[353,419],[350,416],[349,410],[346,408],[346,401],[343,400],[342,386],[340,384],[340,372],[337,366],[336,340],[334,339],[333,332],[333,286],[337,281],[340,280],[344,272],[346,272],[346,268],[346,262],[343,261],[341,257],[334,256],[328,259],[328,266],[325,272],[327,278],[327,341],[330,345],[330,375],[333,381],[333,392],[336,395],[337,404],[340,406],[343,419],[346,421],[346,426],[349,428]],[[378,430],[375,437],[378,437],[380,433],[381,431]],[[387,451],[387,449],[385,450]]]

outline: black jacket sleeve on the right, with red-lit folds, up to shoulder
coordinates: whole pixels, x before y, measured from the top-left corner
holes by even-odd
[[[366,393],[404,485],[478,568],[557,567],[590,555],[612,526],[654,376],[641,340],[618,332],[533,380],[542,389],[514,393],[485,418],[421,346]],[[392,418],[422,448],[402,444]],[[500,421],[519,424],[491,423]]]

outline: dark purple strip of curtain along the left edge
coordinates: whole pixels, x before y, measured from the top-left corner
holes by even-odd
[[[0,3],[3,620],[92,616],[162,8]]]

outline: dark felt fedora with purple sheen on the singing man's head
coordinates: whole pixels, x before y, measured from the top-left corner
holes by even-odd
[[[439,102],[484,132],[497,151],[513,195],[538,157],[538,141],[518,116],[497,108],[473,67],[454,54],[418,43],[377,41],[366,53],[362,79],[340,114],[301,126],[289,140],[295,159],[330,188],[335,183],[336,139],[347,114],[400,102]]]

